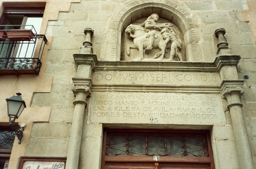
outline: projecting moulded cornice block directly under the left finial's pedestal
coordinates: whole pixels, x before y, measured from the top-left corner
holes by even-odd
[[[89,64],[92,66],[92,70],[94,69],[97,60],[97,55],[95,54],[73,54],[76,65],[79,64]]]

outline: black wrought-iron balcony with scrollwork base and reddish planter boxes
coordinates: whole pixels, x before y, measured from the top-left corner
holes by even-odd
[[[20,29],[4,29],[8,27]],[[0,75],[39,74],[45,35],[32,25],[0,25]]]

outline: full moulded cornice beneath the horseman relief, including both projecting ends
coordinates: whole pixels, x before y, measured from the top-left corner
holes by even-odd
[[[76,65],[89,64],[92,70],[126,71],[218,71],[223,66],[236,66],[239,55],[219,55],[214,62],[128,62],[98,61],[95,54],[73,54]]]

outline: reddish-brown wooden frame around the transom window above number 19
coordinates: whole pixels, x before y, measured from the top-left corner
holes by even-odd
[[[103,132],[103,144],[102,144],[102,153],[101,153],[101,169],[104,169],[106,163],[112,164],[115,162],[127,163],[127,162],[156,162],[153,160],[153,156],[148,155],[135,155],[135,156],[107,156],[107,136],[109,132],[152,132],[152,133],[194,133],[194,134],[204,134],[206,136],[206,141],[208,144],[208,157],[194,157],[194,156],[160,156],[160,163],[182,163],[189,164],[191,162],[197,163],[198,165],[209,165],[211,169],[214,169],[214,160],[213,160],[213,152],[211,145],[211,136],[208,130],[173,130],[173,129],[109,129],[105,128]]]

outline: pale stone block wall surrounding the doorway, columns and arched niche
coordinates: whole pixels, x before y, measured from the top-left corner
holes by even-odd
[[[76,75],[77,66],[72,55],[80,53],[80,47],[85,39],[84,29],[91,27],[94,30],[92,36],[93,53],[97,55],[99,62],[92,73],[92,97],[87,98],[88,106],[84,112],[78,168],[88,168],[88,166],[92,165],[95,168],[100,168],[103,127],[209,129],[212,137],[215,167],[220,169],[240,168],[241,164],[239,163],[231,115],[226,108],[226,99],[222,99],[220,94],[220,85],[223,78],[217,67],[214,67],[214,64],[207,66],[202,66],[203,64],[201,64],[198,67],[194,65],[194,67],[192,66],[193,68],[196,67],[194,71],[191,70],[192,67],[189,67],[189,65],[183,64],[181,64],[183,66],[171,64],[172,69],[168,67],[168,62],[164,63],[164,66],[166,66],[164,68],[162,65],[157,65],[158,67],[155,65],[156,68],[154,68],[154,66],[150,67],[150,64],[142,64],[144,70],[141,70],[140,63],[133,62],[127,66],[116,62],[120,60],[117,52],[117,50],[120,50],[120,46],[116,45],[113,48],[113,45],[115,43],[118,44],[118,42],[115,41],[115,31],[110,27],[113,26],[118,12],[122,11],[121,9],[127,7],[129,3],[135,2],[139,2],[139,4],[134,4],[134,6],[155,3],[158,5],[163,4],[163,6],[172,5],[172,8],[177,10],[186,10],[187,15],[193,19],[198,51],[198,59],[188,59],[188,61],[205,62],[205,64],[213,63],[216,58],[216,46],[218,44],[218,38],[215,37],[214,31],[219,28],[226,30],[225,36],[232,55],[241,55],[242,57],[237,66],[239,79],[245,81],[243,86],[244,95],[241,100],[244,104],[243,114],[248,135],[250,136],[252,154],[254,161],[256,161],[256,115],[254,106],[256,100],[254,97],[255,83],[252,80],[255,77],[254,58],[256,49],[250,22],[244,22],[244,15],[241,13],[241,10],[251,9],[250,6],[248,8],[247,2],[244,0],[208,0],[203,2],[200,0],[81,0],[80,3],[71,3],[68,12],[59,12],[58,19],[56,21],[48,21],[46,27],[46,35],[52,36],[52,44],[46,57],[45,77],[53,77],[52,88],[50,93],[34,93],[31,107],[51,107],[51,113],[49,122],[33,123],[25,155],[67,156],[74,113],[73,101],[75,100],[72,92],[74,85],[72,77],[78,76]],[[153,11],[148,11],[148,13],[151,14]],[[125,28],[121,27],[120,29]],[[188,33],[189,35],[191,36],[191,32]],[[116,52],[116,55],[112,55],[113,52]],[[186,55],[188,57],[191,56],[190,58],[195,58],[192,57],[193,49],[188,50]],[[136,69],[132,69],[134,67]],[[166,75],[169,74],[168,79]],[[249,75],[249,79],[244,79],[245,74]],[[137,79],[142,80],[134,80],[133,77],[135,76],[137,76]],[[204,80],[205,76],[207,77],[206,80]],[[175,78],[176,81],[173,80]],[[136,88],[136,86],[139,87]],[[153,87],[150,88],[149,86]],[[133,94],[133,92],[136,92],[136,94]],[[137,99],[140,102],[138,103],[140,106],[133,106],[133,108],[132,106],[120,105],[122,103],[119,103],[119,106],[111,105],[106,107],[100,104],[104,101],[116,103],[117,98],[99,99],[102,95],[126,96],[127,99],[122,97],[122,100],[129,103],[133,101],[133,99],[129,98],[130,95],[148,96],[149,98],[151,97],[152,101],[154,101],[154,97],[159,99],[159,96],[165,96],[166,98],[175,96],[190,97],[191,99],[179,103],[183,104],[181,107],[177,105],[177,101],[165,103],[167,105],[172,104],[164,107],[166,110],[168,109],[168,114],[166,115],[165,109],[162,107],[161,110],[158,110],[159,114],[157,115],[149,112],[149,109],[154,109],[156,106],[147,106],[146,104],[148,103],[145,103],[146,100],[144,99]],[[197,95],[202,97],[201,101],[193,101]],[[208,97],[215,100],[211,102],[207,100]],[[144,106],[141,105],[143,101]],[[164,102],[166,102],[166,99],[160,103],[163,104]],[[201,112],[199,115],[187,114],[188,112],[193,113],[191,108],[186,109],[189,104],[193,104],[191,107],[195,108],[195,111],[207,111],[207,108],[209,108],[209,111],[214,109],[215,112],[208,114]],[[206,110],[202,110],[206,107],[204,104],[210,104]],[[218,105],[217,107],[216,104]],[[125,107],[125,110],[122,110],[121,106]],[[114,111],[107,114],[109,107]],[[116,109],[116,107],[119,108]],[[127,110],[127,107],[129,110]],[[134,114],[138,112],[138,108],[137,111],[131,114],[126,113],[130,109],[136,109],[136,107],[142,109],[142,112],[145,111],[145,114]],[[143,110],[144,107],[146,107],[145,110]],[[185,109],[182,110],[184,107]],[[175,117],[176,114],[170,113],[172,111],[171,108],[176,108],[177,110],[180,108],[181,112]],[[158,119],[155,119],[155,116]],[[151,118],[153,119],[152,121]],[[38,144],[42,145],[42,147],[35,148]],[[95,154],[98,155],[95,156]],[[93,156],[93,160],[86,160],[88,156]]]

